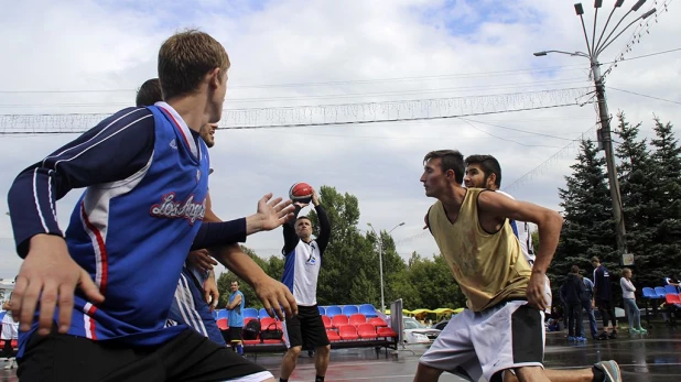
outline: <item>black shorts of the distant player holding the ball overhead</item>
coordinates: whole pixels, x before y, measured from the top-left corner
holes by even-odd
[[[321,348],[331,345],[317,306],[298,306],[298,316],[287,317],[283,325],[287,347]]]

